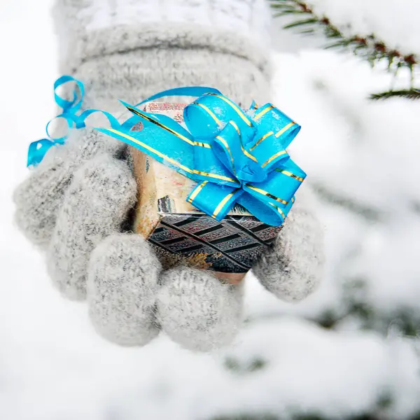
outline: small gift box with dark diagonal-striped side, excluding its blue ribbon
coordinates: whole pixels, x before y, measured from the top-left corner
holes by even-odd
[[[186,105],[151,102],[144,111],[183,123]],[[141,132],[142,126],[136,123],[130,131]],[[137,148],[130,153],[139,192],[134,232],[148,239],[163,267],[181,262],[230,283],[241,281],[281,226],[262,223],[239,204],[216,221],[186,200],[197,183]]]

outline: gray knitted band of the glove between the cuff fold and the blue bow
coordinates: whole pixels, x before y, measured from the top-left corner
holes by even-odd
[[[73,76],[85,83],[86,108],[120,115],[123,99],[137,104],[172,87],[210,86],[248,108],[269,102],[269,78],[244,57],[207,49],[149,48],[102,55],[80,64]],[[181,97],[176,102],[186,102]]]

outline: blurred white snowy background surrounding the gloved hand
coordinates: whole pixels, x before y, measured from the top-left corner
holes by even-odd
[[[303,127],[292,154],[318,192],[323,285],[291,305],[248,277],[248,322],[225,351],[194,354],[162,336],[120,348],[94,334],[84,304],[52,288],[42,256],[13,225],[27,146],[55,112],[51,3],[0,0],[0,419],[375,412],[400,420],[419,412],[420,102],[369,102],[390,86],[387,73],[314,49],[321,38],[277,31],[276,104]],[[340,25],[420,52],[418,1],[312,3]],[[334,328],[316,322],[331,319]]]

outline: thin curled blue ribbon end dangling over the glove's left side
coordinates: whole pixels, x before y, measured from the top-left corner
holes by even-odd
[[[76,83],[76,86],[78,87],[78,91],[76,90],[76,87],[73,89],[73,99],[70,101],[67,99],[64,99],[57,94],[57,89],[64,85],[65,83],[73,82]],[[29,144],[29,150],[28,150],[28,160],[27,160],[27,166],[36,166],[38,165],[44,158],[45,153],[47,153],[52,146],[57,146],[57,144],[64,144],[64,141],[67,137],[69,137],[69,134],[67,133],[63,137],[52,137],[52,135],[49,132],[50,124],[52,121],[54,121],[57,118],[64,118],[66,120],[67,126],[69,127],[69,130],[73,127],[75,128],[83,128],[85,127],[85,119],[92,115],[92,113],[100,112],[106,116],[106,118],[109,120],[109,123],[111,124],[111,127],[120,127],[120,124],[118,123],[118,120],[114,118],[110,113],[105,111],[100,111],[99,109],[89,109],[86,111],[83,111],[83,113],[80,113],[78,115],[78,111],[80,111],[80,108],[83,103],[83,98],[85,96],[85,87],[80,80],[77,80],[76,78],[73,78],[72,76],[61,76],[55,80],[54,83],[54,98],[55,103],[62,108],[62,113],[59,113],[58,116],[55,118],[52,118],[45,127],[45,131],[47,133],[48,139],[41,139],[37,141],[33,141],[31,144]]]

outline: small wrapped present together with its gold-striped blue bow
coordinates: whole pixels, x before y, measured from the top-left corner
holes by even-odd
[[[272,245],[306,176],[286,152],[300,126],[272,104],[242,111],[211,88],[148,100],[169,94],[198,99],[125,104],[131,118],[99,129],[132,146],[134,231],[163,267],[182,263],[237,283]]]

